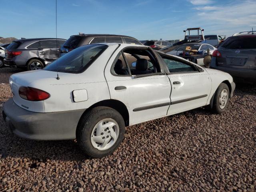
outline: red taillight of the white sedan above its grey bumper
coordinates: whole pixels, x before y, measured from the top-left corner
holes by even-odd
[[[22,99],[29,101],[42,101],[50,97],[47,92],[32,87],[20,87],[19,95]]]

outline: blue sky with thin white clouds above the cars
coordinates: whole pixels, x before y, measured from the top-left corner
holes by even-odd
[[[183,30],[230,36],[256,30],[256,0],[57,0],[58,38],[84,33],[183,39]],[[0,0],[0,36],[55,37],[55,0]]]

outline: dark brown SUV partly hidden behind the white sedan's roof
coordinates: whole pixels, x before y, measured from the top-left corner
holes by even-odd
[[[95,43],[128,43],[128,44],[143,45],[137,39],[129,36],[79,33],[79,35],[70,36],[70,38],[62,45],[60,49],[60,55],[62,56],[67,52],[75,48],[78,48],[80,46],[95,44]]]

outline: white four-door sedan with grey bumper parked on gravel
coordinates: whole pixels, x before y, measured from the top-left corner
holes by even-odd
[[[206,105],[224,112],[235,88],[225,72],[115,43],[76,48],[42,70],[13,74],[10,86],[3,116],[14,134],[76,139],[96,158],[114,152],[126,126]]]

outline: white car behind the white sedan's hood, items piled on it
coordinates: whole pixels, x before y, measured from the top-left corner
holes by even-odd
[[[209,54],[212,55],[214,50],[217,50],[214,46],[206,43],[186,43],[178,46],[178,48],[167,52],[166,54],[180,56],[180,54],[183,53],[184,50],[186,50],[186,47],[191,47],[191,50],[198,50],[202,51],[203,55],[207,55],[207,50],[209,49]],[[204,65],[204,58],[198,58],[196,59],[196,63],[200,66]]]

